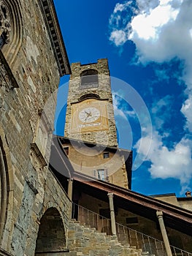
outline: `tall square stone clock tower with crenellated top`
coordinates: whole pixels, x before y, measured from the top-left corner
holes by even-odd
[[[71,68],[64,136],[118,146],[107,59]]]

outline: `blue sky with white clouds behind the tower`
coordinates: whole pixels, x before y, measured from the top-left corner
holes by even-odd
[[[192,1],[54,2],[70,63],[109,61],[119,146],[134,151],[132,189],[185,196],[192,188]],[[68,80],[61,78],[58,94],[58,135]]]

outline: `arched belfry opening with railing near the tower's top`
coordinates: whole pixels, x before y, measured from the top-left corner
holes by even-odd
[[[80,89],[91,89],[99,86],[96,69],[86,69],[80,74]]]

